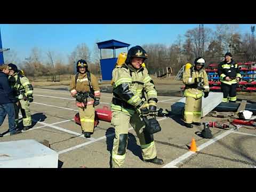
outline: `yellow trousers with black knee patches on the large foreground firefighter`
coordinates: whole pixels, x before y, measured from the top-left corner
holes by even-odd
[[[111,119],[111,125],[115,126],[115,138],[112,150],[113,168],[120,168],[124,164],[129,123],[139,138],[143,159],[153,159],[156,157],[153,134],[150,135],[143,131],[145,124],[141,121],[139,115],[135,113],[133,116],[129,116],[119,111],[113,111]]]

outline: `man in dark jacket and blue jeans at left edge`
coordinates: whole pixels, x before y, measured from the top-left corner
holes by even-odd
[[[10,135],[21,133],[17,131],[15,124],[15,102],[18,101],[14,97],[13,89],[11,89],[8,80],[9,66],[0,66],[0,126],[3,124],[6,114],[8,115]],[[0,137],[3,137],[0,134]]]

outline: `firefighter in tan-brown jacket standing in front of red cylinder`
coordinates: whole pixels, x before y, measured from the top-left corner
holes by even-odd
[[[100,103],[100,87],[85,60],[77,61],[76,70],[77,74],[71,79],[69,90],[72,97],[76,98],[82,133],[84,137],[90,138],[94,131],[94,106]]]

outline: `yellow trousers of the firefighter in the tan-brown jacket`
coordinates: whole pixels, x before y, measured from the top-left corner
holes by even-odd
[[[93,105],[87,105],[87,107],[83,110],[79,107],[79,117],[81,121],[82,130],[84,132],[94,131],[94,116],[95,110]]]

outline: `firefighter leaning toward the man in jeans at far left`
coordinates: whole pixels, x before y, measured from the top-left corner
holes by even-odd
[[[17,66],[13,63],[9,65],[9,83],[14,89],[15,97],[18,98],[17,105],[14,105],[15,108],[15,123],[19,123],[19,110],[21,111],[22,121],[23,121],[23,130],[26,131],[30,128],[31,114],[29,109],[30,102],[33,102],[33,86],[29,82],[28,78],[25,77],[21,70],[18,70]]]

